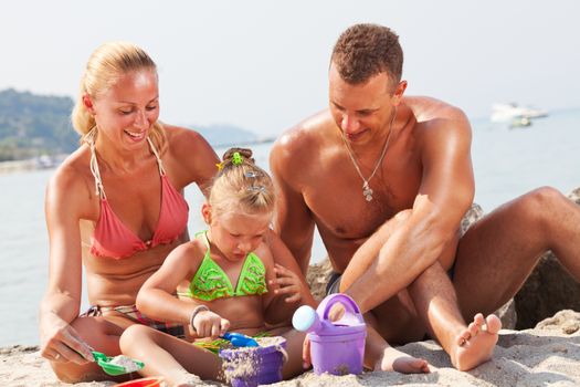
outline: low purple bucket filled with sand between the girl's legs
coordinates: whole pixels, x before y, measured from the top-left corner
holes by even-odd
[[[276,343],[268,346],[220,351],[225,377],[232,387],[256,387],[282,380],[285,352],[283,353],[281,348],[286,348],[286,339],[276,338]]]

